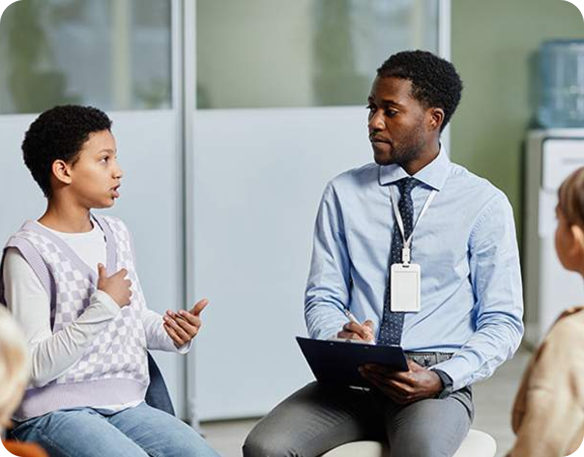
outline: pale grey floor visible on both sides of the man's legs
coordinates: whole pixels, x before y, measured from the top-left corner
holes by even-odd
[[[500,367],[491,379],[475,385],[477,416],[472,427],[488,432],[496,439],[496,457],[504,456],[513,442],[511,407],[529,355],[526,350],[518,351],[513,361]],[[203,423],[201,428],[207,441],[221,456],[240,457],[241,445],[256,421],[248,419]]]

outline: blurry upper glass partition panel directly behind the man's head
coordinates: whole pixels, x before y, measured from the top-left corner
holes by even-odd
[[[197,107],[363,104],[377,67],[438,51],[439,0],[197,0]]]

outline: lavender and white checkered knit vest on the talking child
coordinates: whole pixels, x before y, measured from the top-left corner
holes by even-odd
[[[57,409],[144,399],[150,382],[146,336],[141,321],[145,300],[135,272],[131,236],[120,219],[92,217],[105,234],[107,274],[112,275],[120,268],[128,270],[132,281],[131,304],[121,309],[65,374],[41,388],[29,386],[14,415],[18,420]],[[54,233],[35,222],[25,222],[8,240],[4,252],[8,247],[19,250],[50,296],[53,333],[70,325],[89,306],[89,298],[97,287],[97,275]],[[2,264],[0,302],[5,302]]]

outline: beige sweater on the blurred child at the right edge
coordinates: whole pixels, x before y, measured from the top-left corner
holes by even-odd
[[[508,457],[566,457],[584,438],[584,307],[566,310],[529,367],[513,405]]]

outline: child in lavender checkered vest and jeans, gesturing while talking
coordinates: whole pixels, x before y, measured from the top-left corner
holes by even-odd
[[[32,357],[12,434],[51,457],[216,457],[193,428],[144,402],[147,349],[187,353],[207,301],[164,318],[148,310],[126,225],[91,212],[120,196],[111,124],[98,109],[58,106],[22,144],[47,210],[8,240],[0,264],[0,301]]]

